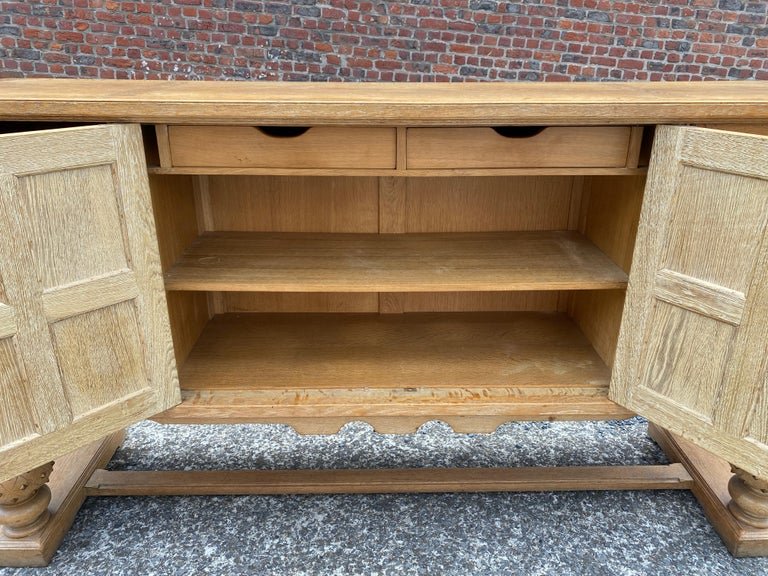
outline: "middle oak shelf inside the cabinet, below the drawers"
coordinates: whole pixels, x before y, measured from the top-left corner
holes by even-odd
[[[448,292],[624,288],[627,275],[576,232],[200,236],[168,290]]]

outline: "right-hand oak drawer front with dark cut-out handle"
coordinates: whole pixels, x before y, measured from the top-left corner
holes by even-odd
[[[629,126],[409,128],[409,169],[621,168],[630,150]]]

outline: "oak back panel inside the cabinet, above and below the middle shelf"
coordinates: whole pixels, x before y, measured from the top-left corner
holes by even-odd
[[[566,230],[581,178],[204,176],[207,230],[457,232]],[[217,312],[430,312],[562,309],[548,292],[222,293]]]

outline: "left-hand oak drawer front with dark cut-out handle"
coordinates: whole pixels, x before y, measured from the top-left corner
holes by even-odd
[[[394,168],[394,128],[169,126],[174,167]]]

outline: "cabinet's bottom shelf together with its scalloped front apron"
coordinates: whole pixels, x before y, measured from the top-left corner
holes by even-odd
[[[610,370],[563,314],[222,314],[180,368],[165,423],[275,422],[331,433],[362,420],[408,432],[443,420],[626,418]]]

